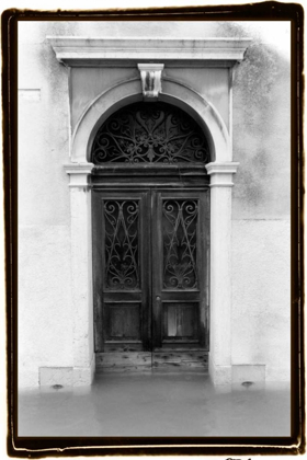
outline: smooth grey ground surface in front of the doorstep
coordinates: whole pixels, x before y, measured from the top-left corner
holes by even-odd
[[[19,436],[289,436],[289,386],[216,387],[202,373],[104,373],[23,390]]]

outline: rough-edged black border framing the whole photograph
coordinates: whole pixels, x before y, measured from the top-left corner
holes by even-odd
[[[18,22],[19,21],[291,21],[292,22],[292,436],[286,438],[18,437]],[[305,438],[304,359],[304,10],[268,1],[241,5],[2,13],[2,133],[7,292],[8,436],[11,457],[111,455],[299,455]]]

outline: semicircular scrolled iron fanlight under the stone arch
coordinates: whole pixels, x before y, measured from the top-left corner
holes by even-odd
[[[206,138],[194,119],[164,103],[132,104],[99,129],[92,162],[207,163]]]

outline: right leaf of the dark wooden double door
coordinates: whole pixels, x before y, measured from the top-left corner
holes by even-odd
[[[152,347],[207,345],[206,192],[155,192]]]

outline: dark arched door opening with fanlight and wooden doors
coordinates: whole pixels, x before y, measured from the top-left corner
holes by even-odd
[[[138,102],[91,147],[98,368],[207,367],[209,143],[183,110]]]

